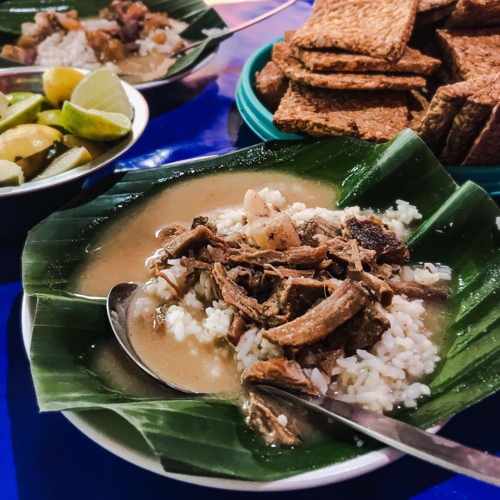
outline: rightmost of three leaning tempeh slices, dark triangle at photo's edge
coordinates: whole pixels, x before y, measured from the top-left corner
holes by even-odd
[[[500,104],[496,104],[491,115],[475,138],[462,165],[497,165],[500,163]]]

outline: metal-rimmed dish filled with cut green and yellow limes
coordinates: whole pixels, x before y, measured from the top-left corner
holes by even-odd
[[[142,95],[109,68],[0,69],[0,197],[85,177],[142,134]]]

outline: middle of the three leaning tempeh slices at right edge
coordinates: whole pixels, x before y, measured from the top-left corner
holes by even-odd
[[[463,161],[499,101],[499,85],[481,88],[467,98],[454,117],[446,138],[441,154],[444,163],[457,165]]]

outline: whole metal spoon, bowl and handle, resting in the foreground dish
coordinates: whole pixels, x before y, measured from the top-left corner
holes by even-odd
[[[199,392],[160,377],[135,352],[128,333],[127,317],[136,290],[137,285],[134,283],[118,283],[111,288],[107,296],[107,315],[118,342],[137,366],[162,384],[188,394],[199,395]],[[258,385],[255,388],[257,391],[302,404],[313,411],[331,416],[355,430],[434,465],[500,486],[500,459],[495,456],[425,432],[381,413],[363,409],[356,404],[326,396],[292,394],[268,385]]]

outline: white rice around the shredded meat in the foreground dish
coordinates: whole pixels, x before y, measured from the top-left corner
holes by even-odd
[[[259,195],[269,206],[279,208],[289,214],[295,223],[302,223],[314,215],[320,215],[331,223],[343,223],[347,215],[364,218],[376,215],[399,237],[407,235],[408,225],[421,218],[415,206],[403,200],[396,200],[395,208],[382,213],[361,210],[352,206],[343,210],[306,207],[295,202],[286,205],[280,191],[267,187]],[[245,211],[242,207],[220,210],[210,214],[210,220],[217,225],[221,234],[244,232]],[[220,251],[208,247],[212,253]],[[160,255],[162,250],[155,253]],[[146,261],[149,264],[150,259]],[[180,265],[180,259],[167,261],[169,268],[163,270],[168,278],[180,289],[185,290],[185,278],[189,270]],[[395,279],[421,284],[436,284],[449,280],[451,272],[444,266],[426,262],[420,267],[403,266]],[[341,281],[331,278],[334,284]],[[135,304],[137,313],[150,313],[154,299],[171,300],[175,296],[172,287],[161,276],[152,278],[145,286],[145,297]],[[168,306],[165,313],[167,332],[178,340],[193,335],[200,342],[211,342],[227,335],[234,309],[223,300],[215,300],[212,280],[207,271],[201,271],[199,280],[187,291],[180,303]],[[139,302],[140,301],[140,302]],[[211,304],[209,306],[203,304]],[[423,323],[426,314],[422,300],[408,300],[404,295],[395,295],[391,305],[382,308],[381,314],[390,322],[380,340],[369,351],[358,349],[350,357],[341,356],[331,373],[324,373],[318,367],[313,353],[306,359],[309,368],[304,373],[310,378],[321,394],[330,394],[348,402],[355,402],[374,411],[390,411],[397,405],[414,407],[418,399],[430,393],[427,385],[418,382],[422,376],[434,370],[439,361],[437,347],[432,342],[432,332]],[[234,348],[234,356],[240,371],[260,360],[283,355],[282,347],[262,337],[256,327],[249,328],[241,336]]]

